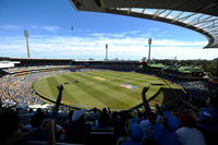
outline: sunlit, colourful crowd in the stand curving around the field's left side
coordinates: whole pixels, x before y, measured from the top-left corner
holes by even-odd
[[[52,76],[56,74],[68,73],[68,70],[40,72],[27,75],[5,75],[0,77],[0,96],[3,102],[19,104],[21,106],[43,105],[45,101],[37,97],[32,90],[33,82]]]

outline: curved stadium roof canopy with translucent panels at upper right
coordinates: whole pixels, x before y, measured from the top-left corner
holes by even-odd
[[[217,0],[70,0],[78,11],[130,15],[160,21],[207,37],[204,48],[218,48]]]

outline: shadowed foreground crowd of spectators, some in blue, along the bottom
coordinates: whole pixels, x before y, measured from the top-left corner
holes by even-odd
[[[173,111],[157,106],[150,113],[147,108],[113,112],[109,108],[71,110],[62,122],[57,110],[45,113],[38,109],[29,121],[22,122],[15,111],[1,108],[0,144],[216,145],[217,95],[208,97],[206,105],[197,108],[185,102],[185,109]]]

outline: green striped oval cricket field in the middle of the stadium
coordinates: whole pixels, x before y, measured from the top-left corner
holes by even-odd
[[[64,88],[62,104],[73,107],[109,107],[111,109],[130,109],[141,104],[141,92],[144,86],[150,86],[147,98],[154,96],[160,87],[179,87],[160,77],[117,71],[66,73],[38,80],[33,86],[41,96],[56,100],[58,84],[63,84]],[[122,86],[123,84],[133,87],[128,88],[128,86]]]

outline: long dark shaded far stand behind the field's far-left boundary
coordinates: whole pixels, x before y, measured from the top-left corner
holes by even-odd
[[[70,59],[22,59],[0,58],[0,60],[20,61],[15,67],[40,67],[40,65],[83,65],[86,69],[105,69],[118,71],[136,71],[140,61],[75,61]]]

